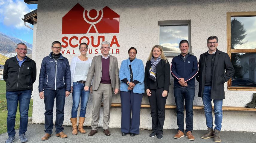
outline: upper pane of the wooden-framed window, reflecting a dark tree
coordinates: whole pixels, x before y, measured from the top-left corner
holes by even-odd
[[[231,49],[256,48],[256,16],[231,17]]]

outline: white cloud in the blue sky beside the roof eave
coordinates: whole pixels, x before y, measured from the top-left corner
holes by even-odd
[[[14,26],[18,29],[25,28],[24,21],[21,18],[24,18],[24,15],[28,12],[31,12],[28,6],[21,0],[0,0],[0,22],[3,22],[6,26]]]

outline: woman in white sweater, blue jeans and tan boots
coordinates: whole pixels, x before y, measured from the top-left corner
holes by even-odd
[[[90,91],[84,91],[87,74],[92,63],[92,59],[86,57],[88,45],[81,43],[79,45],[80,56],[74,57],[71,61],[71,93],[73,105],[71,110],[70,121],[72,123],[72,134],[77,135],[77,109],[81,98],[81,109],[78,122],[78,131],[86,133],[83,129],[83,122],[86,114],[86,105],[89,99]]]

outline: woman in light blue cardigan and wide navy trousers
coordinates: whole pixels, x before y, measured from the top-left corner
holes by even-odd
[[[122,136],[128,133],[130,136],[135,136],[139,133],[141,101],[145,91],[144,65],[141,59],[136,58],[136,48],[129,48],[128,54],[129,58],[122,61],[119,71],[122,104],[121,132]]]

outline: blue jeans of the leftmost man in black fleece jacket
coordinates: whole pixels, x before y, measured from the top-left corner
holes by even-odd
[[[7,133],[15,136],[15,118],[19,102],[19,135],[25,134],[28,128],[28,109],[32,90],[6,91],[7,101]]]

